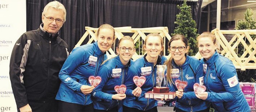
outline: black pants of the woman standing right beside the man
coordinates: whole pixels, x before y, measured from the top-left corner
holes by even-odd
[[[93,103],[87,106],[59,101],[59,112],[93,112]]]

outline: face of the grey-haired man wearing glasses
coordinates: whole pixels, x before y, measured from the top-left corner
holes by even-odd
[[[46,17],[64,20],[64,12],[62,10],[49,8],[44,14],[42,14],[43,29],[46,32],[55,36],[55,34],[60,30],[64,22],[56,23],[55,20],[50,21]]]

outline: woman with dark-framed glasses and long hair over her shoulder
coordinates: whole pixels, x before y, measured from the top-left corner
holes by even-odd
[[[172,36],[168,42],[171,58],[166,61],[167,82],[170,92],[176,91],[175,112],[209,112],[209,103],[196,97],[193,85],[204,84],[203,67],[201,62],[186,55],[189,50],[188,40],[181,34]],[[175,81],[186,81],[187,87],[178,89]]]

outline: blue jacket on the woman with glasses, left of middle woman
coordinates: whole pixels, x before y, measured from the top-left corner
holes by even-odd
[[[124,84],[124,80],[127,78],[127,71],[132,63],[133,60],[130,60],[128,65],[124,66],[119,56],[103,62],[97,74],[97,76],[101,77],[101,83],[91,93],[95,109],[107,111],[118,106],[119,101],[112,99],[112,95],[117,94],[114,87]]]

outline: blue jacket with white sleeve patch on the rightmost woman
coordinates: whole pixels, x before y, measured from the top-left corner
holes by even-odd
[[[208,91],[206,101],[212,102],[216,112],[249,112],[250,107],[239,88],[238,77],[233,63],[217,51],[206,61],[204,83]]]

